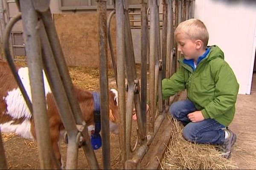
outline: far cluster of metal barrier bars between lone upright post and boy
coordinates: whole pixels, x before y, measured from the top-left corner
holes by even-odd
[[[177,58],[180,58],[180,54],[175,50],[177,45],[174,41],[174,28],[183,20],[192,18],[194,8],[194,0],[162,0],[163,37],[161,51],[159,0],[140,0],[140,4],[141,85],[137,77],[130,26],[131,21],[137,22],[137,20],[129,20],[128,2],[126,0],[115,1],[115,9],[110,13],[107,24],[108,41],[119,96],[119,145],[120,148],[124,148],[121,151],[121,167],[123,169],[141,168],[140,162],[147,153],[163,119],[166,117],[166,108],[169,108],[169,100],[162,100],[161,82],[163,78],[170,77],[175,73],[178,67]],[[116,61],[113,56],[109,28],[113,14],[116,14]],[[148,26],[149,18],[150,26]],[[147,60],[149,62],[149,85],[147,85],[146,76]],[[125,78],[127,79],[127,85],[125,85]],[[146,129],[147,88],[149,88],[150,105],[148,130]],[[125,97],[126,93],[127,97]],[[136,142],[134,148],[131,147],[133,105],[135,105],[136,109],[139,132],[139,142]]]

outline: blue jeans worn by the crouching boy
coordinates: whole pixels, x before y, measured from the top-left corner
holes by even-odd
[[[186,140],[195,143],[222,144],[225,132],[221,125],[214,119],[204,119],[201,122],[191,122],[187,115],[196,111],[195,105],[190,100],[174,102],[169,108],[170,114],[185,126],[183,136]]]

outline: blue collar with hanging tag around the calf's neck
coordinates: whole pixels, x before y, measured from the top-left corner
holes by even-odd
[[[101,129],[99,93],[93,92],[93,101],[94,101],[93,119],[95,123],[95,129],[94,129],[94,133],[91,135],[91,144],[93,149],[97,150],[102,146],[102,139],[99,134]]]

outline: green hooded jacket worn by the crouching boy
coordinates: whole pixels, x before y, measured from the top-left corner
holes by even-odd
[[[205,119],[215,119],[228,126],[235,114],[239,84],[217,45],[210,46],[209,54],[198,63],[195,71],[178,60],[180,69],[169,79],[163,79],[163,99],[187,90],[187,97]]]

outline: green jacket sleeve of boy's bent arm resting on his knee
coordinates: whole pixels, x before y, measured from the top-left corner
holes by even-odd
[[[239,89],[236,76],[226,62],[214,70],[215,96],[202,110],[205,119],[214,119],[230,110],[236,104]]]

